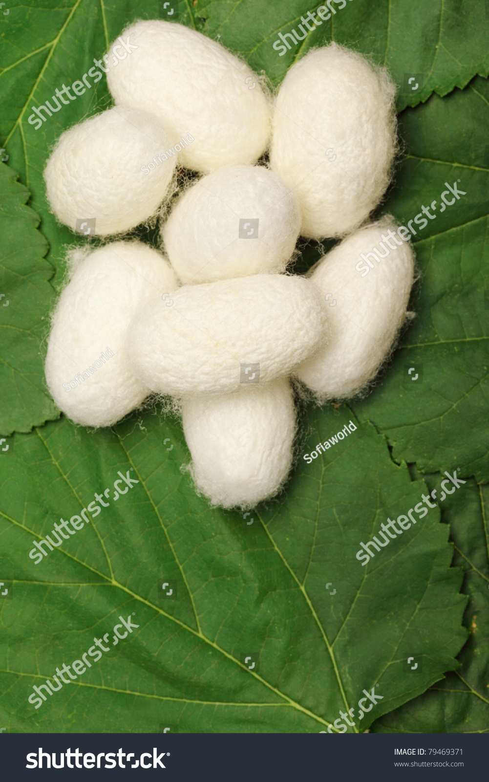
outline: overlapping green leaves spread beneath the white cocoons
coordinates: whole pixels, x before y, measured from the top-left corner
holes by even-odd
[[[195,495],[180,470],[189,454],[178,421],[150,408],[112,430],[74,427],[59,418],[42,371],[66,247],[83,243],[49,212],[42,171],[62,131],[111,105],[105,79],[39,131],[27,117],[80,79],[126,23],[158,18],[160,4],[30,0],[0,15],[9,155],[0,166],[0,292],[9,300],[0,306],[0,580],[13,581],[12,600],[0,601],[0,726],[319,732],[354,708],[355,732],[487,731],[486,5],[350,0],[279,57],[273,41],[313,8],[305,2],[180,2],[181,23],[219,38],[273,84],[330,40],[389,67],[403,152],[379,213],[406,224],[423,204],[439,208],[445,181],[466,192],[415,237],[416,317],[372,393],[349,408],[302,407],[298,450],[349,420],[356,431],[311,465],[299,460],[252,524]],[[405,74],[423,74],[416,95],[405,93]],[[154,231],[140,235],[155,242]],[[298,271],[320,253],[313,242],[301,249]],[[423,368],[416,388],[409,365]],[[34,565],[32,541],[131,468],[139,483]],[[455,469],[466,483],[362,568],[360,541]],[[175,584],[176,599],[160,596],[161,580]],[[38,710],[27,702],[33,684],[133,612],[130,637]],[[418,671],[405,672],[407,655],[423,661]],[[382,700],[359,721],[357,702],[372,687]]]

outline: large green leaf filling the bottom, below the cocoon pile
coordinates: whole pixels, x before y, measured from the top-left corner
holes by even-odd
[[[310,414],[306,453],[349,417]],[[457,665],[466,598],[439,511],[366,566],[356,558],[426,492],[372,425],[302,459],[287,499],[248,518],[195,495],[177,422],[148,413],[140,423],[90,434],[62,419],[14,435],[2,454],[0,572],[12,590],[0,601],[2,725],[317,733],[352,709],[348,731],[363,731]],[[80,529],[70,533],[72,518]],[[61,519],[69,540],[56,546]],[[119,617],[138,627],[114,644]],[[33,687],[63,663],[83,665],[95,638],[109,651],[70,689],[41,690],[36,709]],[[364,690],[381,699],[360,720]]]

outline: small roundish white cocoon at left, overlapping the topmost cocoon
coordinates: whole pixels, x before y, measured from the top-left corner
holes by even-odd
[[[45,167],[52,211],[73,231],[77,220],[94,217],[91,234],[134,228],[156,212],[169,191],[175,158],[158,160],[169,144],[152,114],[122,106],[71,127]],[[146,174],[141,168],[148,163],[155,170]]]

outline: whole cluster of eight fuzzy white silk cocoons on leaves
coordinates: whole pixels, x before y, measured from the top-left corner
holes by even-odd
[[[48,389],[87,427],[164,396],[197,493],[255,508],[291,472],[297,389],[365,393],[407,315],[411,246],[392,217],[369,221],[397,149],[395,87],[330,44],[273,95],[227,48],[158,20],[111,56],[115,106],[65,131],[45,167],[58,220],[95,221],[105,242],[69,253]],[[155,218],[159,246],[127,236]],[[300,236],[341,242],[299,275]]]

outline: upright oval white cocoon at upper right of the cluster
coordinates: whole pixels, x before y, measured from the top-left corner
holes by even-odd
[[[334,43],[287,72],[270,166],[298,194],[303,236],[342,236],[379,203],[396,149],[394,97],[387,70]]]

